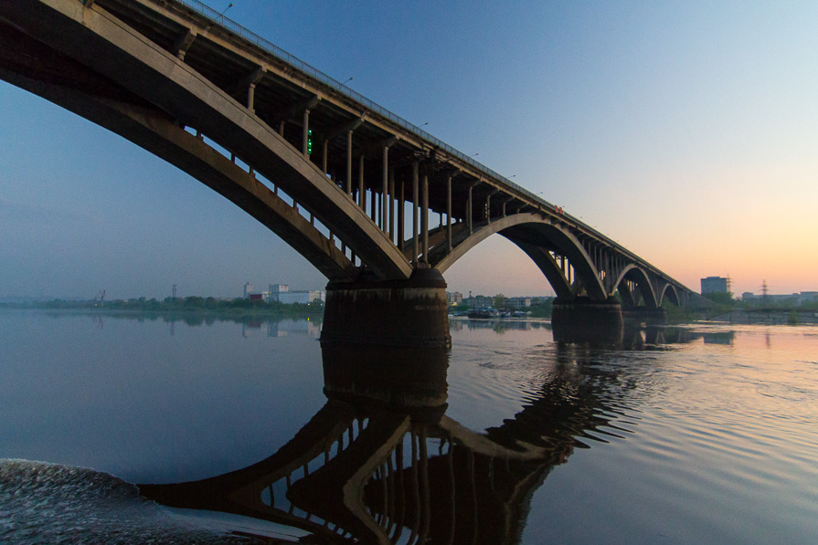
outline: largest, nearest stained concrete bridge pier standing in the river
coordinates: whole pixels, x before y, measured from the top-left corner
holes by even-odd
[[[330,282],[322,343],[451,347],[446,282],[435,268],[409,280]]]

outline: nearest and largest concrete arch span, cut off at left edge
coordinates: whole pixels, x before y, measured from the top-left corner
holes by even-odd
[[[295,205],[182,128],[196,127],[224,149],[240,150],[244,162],[307,209],[377,278],[409,278],[411,264],[366,212],[225,90],[104,12],[80,3],[58,3],[58,9],[20,4],[4,8],[14,12],[19,28],[58,30],[40,32],[40,42],[3,24],[0,49],[12,54],[0,55],[0,77],[191,174],[281,236],[327,278],[356,278],[356,267],[333,238]]]

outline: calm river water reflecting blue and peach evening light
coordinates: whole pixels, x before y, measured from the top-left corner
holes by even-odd
[[[319,333],[0,311],[0,542],[818,542],[818,328]]]

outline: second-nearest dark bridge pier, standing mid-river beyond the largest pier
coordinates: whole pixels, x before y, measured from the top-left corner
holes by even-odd
[[[551,327],[555,341],[619,343],[623,325],[621,306],[616,299],[554,301]]]

